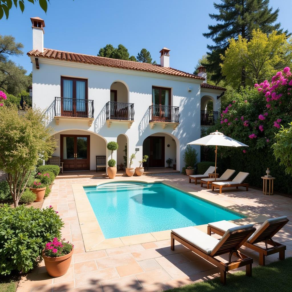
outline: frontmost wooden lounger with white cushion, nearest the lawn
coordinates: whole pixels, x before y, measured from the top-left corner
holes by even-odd
[[[171,250],[174,250],[174,240],[180,242],[198,256],[204,258],[220,269],[220,281],[226,284],[226,273],[230,270],[246,266],[246,275],[251,276],[253,259],[240,253],[239,248],[255,232],[253,224],[228,229],[218,240],[194,227],[171,230]],[[223,262],[216,256],[229,253],[229,261]],[[238,260],[231,260],[232,255]]]

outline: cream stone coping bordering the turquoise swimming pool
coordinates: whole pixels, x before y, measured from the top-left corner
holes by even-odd
[[[181,192],[186,193],[187,195],[191,195],[197,199],[201,199],[206,201],[212,205],[215,205],[219,208],[227,209],[232,213],[239,214],[241,216],[245,216],[245,218],[240,218],[236,220],[230,220],[230,222],[237,223],[237,224],[248,224],[248,223],[262,223],[268,216],[261,215],[261,214],[251,214],[251,212],[247,209],[242,208],[241,206],[237,205],[230,205],[230,203],[222,200],[217,199],[215,196],[212,196],[210,190],[202,189],[199,192],[194,190],[194,188],[187,187],[184,185],[177,186],[177,183],[169,181],[169,180],[160,180],[160,179],[152,179],[150,180],[147,178],[148,181],[145,180],[131,180],[129,178],[124,179],[111,179],[109,180],[102,180],[96,183],[80,183],[80,184],[72,184],[72,190],[74,195],[74,200],[77,209],[77,216],[79,219],[79,225],[81,228],[81,234],[83,238],[84,248],[85,251],[98,251],[106,248],[115,248],[121,246],[129,246],[133,244],[143,244],[148,242],[160,241],[165,239],[170,239],[170,231],[171,230],[163,230],[157,232],[150,232],[150,233],[143,233],[137,235],[130,235],[124,237],[116,237],[116,238],[109,238],[106,239],[102,233],[98,220],[93,212],[91,204],[88,200],[86,192],[83,187],[89,186],[99,186],[107,183],[124,183],[124,182],[131,182],[131,183],[163,183],[168,187],[172,187],[177,189]],[[240,211],[238,208],[240,207]],[[206,232],[207,224],[205,225],[196,225],[195,228]]]

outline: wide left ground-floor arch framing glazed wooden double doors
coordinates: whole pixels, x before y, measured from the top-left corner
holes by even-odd
[[[53,156],[60,157],[64,171],[95,170],[106,173],[106,140],[91,131],[70,129],[54,134],[58,140]]]

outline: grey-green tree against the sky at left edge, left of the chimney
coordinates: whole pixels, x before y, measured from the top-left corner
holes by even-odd
[[[17,95],[26,90],[32,84],[32,75],[26,75],[27,71],[22,66],[9,60],[9,56],[22,55],[23,45],[15,42],[11,35],[0,35],[0,89],[9,94]]]

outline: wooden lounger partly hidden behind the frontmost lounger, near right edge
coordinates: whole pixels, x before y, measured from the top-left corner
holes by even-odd
[[[265,265],[265,257],[270,256],[274,253],[279,253],[279,259],[285,259],[285,250],[286,246],[280,244],[272,239],[272,237],[279,231],[281,228],[288,223],[289,219],[286,216],[271,218],[266,220],[258,230],[247,239],[243,244],[244,246],[251,248],[254,251],[259,253],[259,264],[261,266]],[[208,234],[211,235],[211,232],[214,232],[219,235],[224,235],[226,230],[229,228],[238,227],[234,223],[222,220],[218,222],[213,222],[208,224]],[[264,242],[266,248],[256,245],[256,243]],[[268,247],[267,245],[271,245]]]

